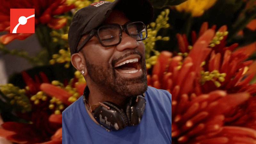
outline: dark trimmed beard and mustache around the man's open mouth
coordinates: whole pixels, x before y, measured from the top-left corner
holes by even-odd
[[[117,61],[132,54],[139,54],[141,57],[139,62],[142,69],[142,75],[133,78],[121,76],[116,72],[114,66]],[[111,92],[118,96],[112,96],[113,99],[120,99],[121,97],[121,99],[134,97],[136,95],[143,94],[148,89],[146,60],[145,56],[143,57],[140,52],[133,51],[127,53],[118,59],[114,59],[111,64],[95,64],[86,59],[85,62],[87,72],[91,80],[98,86],[99,89],[101,88],[108,91],[104,93]]]

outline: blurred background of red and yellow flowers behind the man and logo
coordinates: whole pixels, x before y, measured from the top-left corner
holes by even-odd
[[[1,144],[62,143],[61,113],[86,86],[70,62],[68,28],[96,1],[1,0],[0,53],[33,66],[1,70],[10,75],[0,85]],[[172,143],[256,143],[255,0],[150,1],[148,86],[172,94]],[[34,8],[36,33],[10,34],[10,8]],[[36,56],[12,45],[33,36]]]

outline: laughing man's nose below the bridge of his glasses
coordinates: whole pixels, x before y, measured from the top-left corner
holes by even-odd
[[[124,51],[125,49],[134,49],[139,46],[139,42],[129,36],[125,31],[122,32],[121,43],[116,46],[117,51]]]

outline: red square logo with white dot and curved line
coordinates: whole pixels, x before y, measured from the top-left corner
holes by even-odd
[[[10,33],[35,33],[35,9],[11,9]]]

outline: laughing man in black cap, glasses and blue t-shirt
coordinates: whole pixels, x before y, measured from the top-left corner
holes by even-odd
[[[87,83],[62,113],[63,144],[170,144],[171,94],[147,86],[148,0],[100,1],[76,12],[72,65]]]

